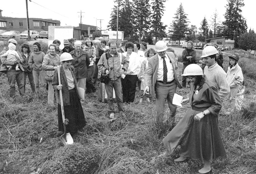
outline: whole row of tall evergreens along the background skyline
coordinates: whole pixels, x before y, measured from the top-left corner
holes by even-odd
[[[115,0],[108,29],[117,29],[117,6],[119,7],[118,30],[124,31],[124,38],[129,41],[145,41],[153,44],[152,38],[168,37],[173,41],[191,40],[205,42],[206,39],[227,37],[235,40],[235,47],[239,47],[242,35],[247,34],[246,19],[241,15],[243,0],[227,0],[224,21],[219,18],[218,10],[212,12],[209,23],[204,16],[200,27],[191,24],[182,3],[175,12],[175,17],[167,25],[161,22],[166,0]],[[165,32],[167,30],[167,32]],[[254,33],[254,31],[251,33]],[[239,38],[240,37],[240,38]],[[238,42],[239,41],[239,42]]]

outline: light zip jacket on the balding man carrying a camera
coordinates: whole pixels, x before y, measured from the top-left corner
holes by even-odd
[[[118,75],[118,73],[121,70],[120,54],[121,53],[116,52],[114,54],[114,57],[112,57],[108,51],[107,53],[104,53],[103,55],[101,55],[100,60],[97,64],[99,68],[99,72],[105,74],[106,70],[107,69],[109,70],[110,80],[117,80],[118,78],[120,78],[120,75]],[[127,71],[127,68],[129,66],[129,61],[124,55],[122,55],[122,64],[123,64],[122,69],[124,71]],[[113,69],[110,70],[110,67],[113,67]]]

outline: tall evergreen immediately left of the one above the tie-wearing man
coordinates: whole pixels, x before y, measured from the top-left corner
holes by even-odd
[[[149,0],[133,0],[134,11],[134,28],[138,33],[139,43],[142,35],[150,28],[150,4]]]

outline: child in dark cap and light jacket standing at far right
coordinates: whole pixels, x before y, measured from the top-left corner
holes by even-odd
[[[227,81],[230,87],[230,93],[228,94],[228,112],[231,112],[234,109],[239,86],[243,84],[243,72],[238,65],[238,60],[239,56],[237,54],[229,56],[229,67],[227,71]]]

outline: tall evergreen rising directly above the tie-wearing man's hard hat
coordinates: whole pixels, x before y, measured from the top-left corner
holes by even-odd
[[[166,0],[153,0],[152,1],[152,23],[151,23],[151,28],[152,28],[152,35],[154,37],[156,37],[156,41],[157,42],[157,38],[163,38],[166,36],[165,34],[165,29],[166,29],[166,25],[163,25],[163,23],[161,22],[162,19],[162,15],[164,14],[164,2]]]

